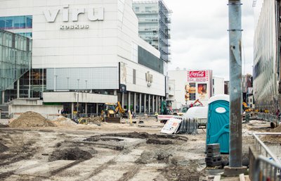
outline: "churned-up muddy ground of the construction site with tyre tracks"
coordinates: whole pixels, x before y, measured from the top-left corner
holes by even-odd
[[[206,130],[162,135],[162,123],[143,122],[0,127],[0,180],[208,180]],[[267,124],[243,125],[244,158],[251,132]]]

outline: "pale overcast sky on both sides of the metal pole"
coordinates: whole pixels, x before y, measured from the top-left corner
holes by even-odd
[[[229,80],[228,1],[164,0],[171,13],[169,70],[210,69]],[[242,0],[242,74],[252,75],[254,9]],[[243,52],[244,50],[244,52]]]

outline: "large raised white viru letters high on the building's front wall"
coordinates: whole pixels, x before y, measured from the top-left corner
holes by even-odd
[[[70,16],[69,5],[63,6],[61,11],[62,11],[62,15],[63,15],[63,22],[68,22],[70,19],[69,18],[69,16]],[[45,15],[47,22],[49,22],[49,23],[55,22],[55,18],[57,18],[58,12],[60,12],[59,8],[44,11],[44,15]],[[73,22],[77,22],[78,16],[80,14],[84,14],[84,13],[85,13],[85,8],[73,8],[71,20]],[[103,8],[88,8],[87,13],[88,13],[88,19],[91,21],[103,20]]]

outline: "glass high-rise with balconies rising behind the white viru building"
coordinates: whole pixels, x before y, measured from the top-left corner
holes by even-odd
[[[138,17],[138,35],[160,51],[163,61],[170,61],[171,11],[162,0],[133,1],[133,11]]]

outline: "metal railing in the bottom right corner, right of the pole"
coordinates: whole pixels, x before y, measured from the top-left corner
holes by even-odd
[[[253,133],[255,138],[254,146],[256,149],[257,158],[250,160],[253,162],[251,166],[251,177],[254,181],[263,181],[263,180],[281,180],[280,177],[280,168],[281,162],[280,159],[273,154],[272,151],[264,144],[258,135],[281,135],[277,132],[257,132]]]

